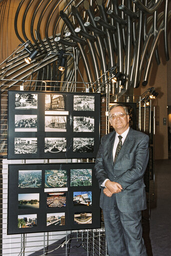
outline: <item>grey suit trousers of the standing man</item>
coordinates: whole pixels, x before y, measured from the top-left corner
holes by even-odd
[[[119,211],[114,195],[110,211],[103,209],[109,256],[147,256],[142,238],[141,211]]]

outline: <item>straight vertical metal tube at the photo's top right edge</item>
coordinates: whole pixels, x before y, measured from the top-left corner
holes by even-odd
[[[165,0],[164,7],[164,53],[166,61],[169,60],[169,52],[168,52],[168,0]]]

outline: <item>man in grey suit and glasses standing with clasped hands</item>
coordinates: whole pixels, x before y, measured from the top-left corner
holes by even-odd
[[[113,105],[108,115],[114,131],[102,137],[95,162],[108,255],[147,256],[141,210],[146,209],[143,175],[149,138],[129,127],[125,106]]]

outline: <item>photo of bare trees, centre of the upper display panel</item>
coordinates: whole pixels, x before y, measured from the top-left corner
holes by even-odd
[[[45,132],[66,132],[66,116],[45,116]]]

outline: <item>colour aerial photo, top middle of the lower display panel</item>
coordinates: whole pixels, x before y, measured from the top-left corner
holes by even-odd
[[[66,187],[66,170],[45,170],[45,187]]]

